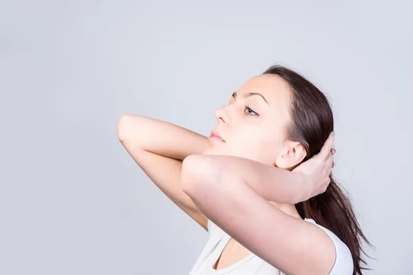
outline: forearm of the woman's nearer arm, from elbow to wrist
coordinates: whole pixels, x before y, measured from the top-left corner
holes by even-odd
[[[198,177],[219,178],[216,182],[220,184],[231,184],[228,181],[238,177],[268,201],[294,204],[306,197],[304,177],[300,173],[251,159],[229,155],[191,155],[184,159],[185,166],[191,168],[185,170],[182,168],[182,173],[198,173]]]

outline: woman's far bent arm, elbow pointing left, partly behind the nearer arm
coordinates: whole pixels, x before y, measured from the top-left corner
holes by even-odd
[[[153,183],[208,230],[208,218],[181,187],[182,160],[188,155],[201,154],[208,146],[207,137],[175,124],[133,114],[122,115],[116,131],[129,155]]]

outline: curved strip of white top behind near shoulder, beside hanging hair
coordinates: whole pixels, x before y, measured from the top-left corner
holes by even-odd
[[[308,221],[310,223],[313,223],[317,225],[319,228],[324,230],[330,236],[330,239],[332,240],[332,243],[335,245],[335,250],[336,250],[336,261],[334,266],[332,267],[332,270],[330,272],[330,275],[334,274],[352,274],[354,265],[353,265],[353,260],[352,260],[352,255],[350,250],[348,249],[348,246],[346,243],[343,243],[339,237],[325,228],[322,225],[319,225],[315,220],[313,219],[304,219],[305,221]]]

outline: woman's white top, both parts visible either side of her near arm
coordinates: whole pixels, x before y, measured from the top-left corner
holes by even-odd
[[[313,219],[304,220],[314,223],[327,232],[328,236],[330,236],[335,244],[337,259],[330,275],[352,275],[352,256],[346,244],[330,230],[317,224]],[[220,270],[213,269],[213,265],[215,265],[220,257],[222,250],[224,250],[224,247],[231,239],[231,236],[226,234],[224,230],[219,228],[218,225],[215,225],[211,220],[208,220],[208,232],[209,239],[207,244],[202,250],[198,260],[195,262],[195,265],[192,267],[189,275],[285,275],[255,254],[249,254],[241,261],[237,261],[237,263],[234,263],[229,267]]]

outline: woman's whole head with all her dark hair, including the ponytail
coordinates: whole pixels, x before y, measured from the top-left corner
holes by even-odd
[[[205,154],[235,155],[288,170],[319,153],[334,131],[326,96],[303,76],[279,65],[244,83],[215,117],[215,130],[224,142],[211,139]],[[371,244],[348,195],[332,176],[326,192],[295,206],[302,218],[314,219],[346,243],[353,274],[366,269],[361,241]]]

